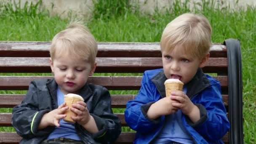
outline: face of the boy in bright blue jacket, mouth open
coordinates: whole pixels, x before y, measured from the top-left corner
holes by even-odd
[[[182,48],[176,47],[172,51],[162,52],[163,70],[165,77],[188,83],[195,76],[198,67],[204,67],[209,54],[202,60],[187,55]]]

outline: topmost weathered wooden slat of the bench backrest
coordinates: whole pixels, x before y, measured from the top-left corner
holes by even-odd
[[[0,41],[0,57],[49,57],[50,42]],[[211,57],[227,57],[226,46],[213,43]],[[98,43],[97,57],[161,57],[159,43]]]

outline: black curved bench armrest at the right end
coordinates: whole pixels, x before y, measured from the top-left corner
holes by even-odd
[[[229,143],[243,144],[243,81],[240,42],[224,41],[227,48],[229,83]]]

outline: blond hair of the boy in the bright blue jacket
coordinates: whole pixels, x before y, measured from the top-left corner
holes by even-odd
[[[161,37],[161,51],[172,51],[180,47],[186,54],[203,58],[210,51],[211,25],[203,15],[184,13],[173,19]]]

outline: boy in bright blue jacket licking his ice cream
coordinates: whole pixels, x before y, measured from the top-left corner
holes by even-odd
[[[125,121],[136,144],[222,144],[229,130],[219,81],[202,71],[209,59],[211,25],[202,15],[185,13],[164,29],[163,69],[144,72],[136,99],[128,101]],[[179,79],[183,91],[165,95],[165,80]]]

